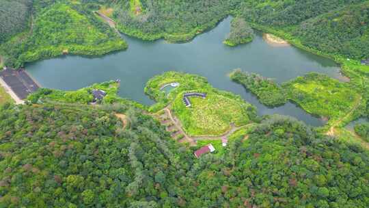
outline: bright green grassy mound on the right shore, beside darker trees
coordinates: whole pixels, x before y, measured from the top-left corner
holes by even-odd
[[[347,83],[316,73],[284,83],[284,89],[289,99],[306,112],[329,119],[338,119],[348,114],[361,97]]]

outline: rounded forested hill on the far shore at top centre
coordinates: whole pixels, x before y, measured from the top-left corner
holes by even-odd
[[[142,11],[133,13],[129,2],[120,1],[113,7],[122,32],[144,40],[165,38],[174,42],[191,40],[215,27],[234,8],[233,0],[140,0]]]

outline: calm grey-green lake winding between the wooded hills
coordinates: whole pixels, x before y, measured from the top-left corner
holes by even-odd
[[[278,82],[318,72],[339,78],[340,68],[331,60],[295,47],[273,47],[258,34],[255,40],[239,47],[226,47],[222,41],[230,31],[226,18],[215,29],[183,44],[169,44],[165,40],[146,42],[124,36],[127,51],[87,58],[79,56],[42,60],[26,66],[28,72],[44,88],[77,90],[92,83],[121,79],[120,96],[150,105],[154,103],[143,88],[154,75],[167,70],[202,75],[216,88],[240,94],[258,107],[260,115],[283,114],[318,126],[323,121],[306,114],[292,103],[268,108],[227,76],[234,68],[242,68]]]

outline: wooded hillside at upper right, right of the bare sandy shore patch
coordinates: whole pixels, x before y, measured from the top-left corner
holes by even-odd
[[[327,53],[369,56],[369,1],[303,22],[293,34],[301,43]]]

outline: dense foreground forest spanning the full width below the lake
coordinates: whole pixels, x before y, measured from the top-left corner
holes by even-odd
[[[124,106],[3,105],[0,118],[1,207],[369,205],[368,151],[291,118],[200,159]]]

